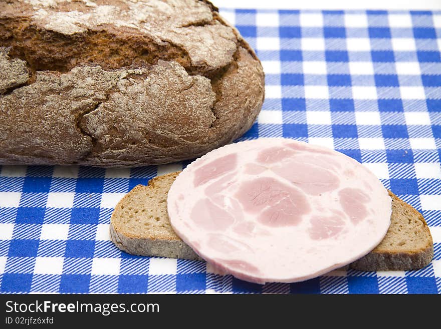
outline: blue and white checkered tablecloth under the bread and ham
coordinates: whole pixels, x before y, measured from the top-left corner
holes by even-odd
[[[132,169],[0,167],[1,292],[441,292],[441,12],[224,10],[257,51],[266,101],[243,139],[284,136],[362,162],[418,209],[434,240],[418,271],[333,271],[247,283],[204,262],[126,254],[114,205],[184,164]]]

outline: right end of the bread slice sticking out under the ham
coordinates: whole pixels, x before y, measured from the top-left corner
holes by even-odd
[[[433,241],[424,218],[391,191],[389,195],[392,198],[392,215],[386,236],[370,253],[351,263],[351,268],[405,271],[423,268],[432,260]]]

